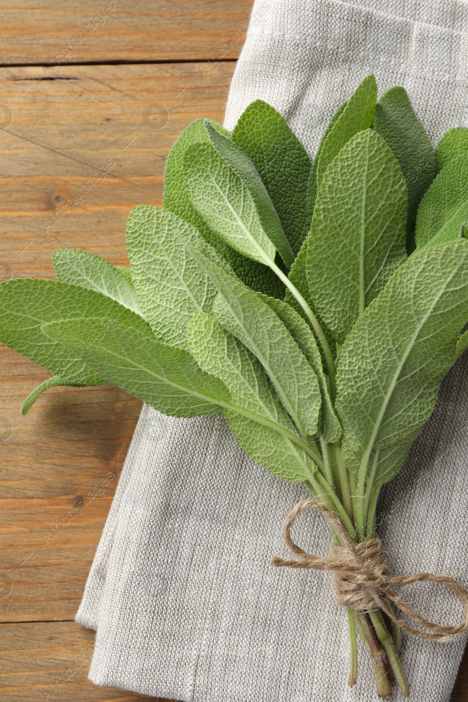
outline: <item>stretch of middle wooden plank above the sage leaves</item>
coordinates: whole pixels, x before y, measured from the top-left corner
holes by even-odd
[[[39,68],[0,69],[0,102],[13,115],[0,130],[1,263],[15,277],[51,276],[61,246],[128,263],[128,212],[161,204],[171,145],[198,117],[222,121],[233,72],[229,62],[204,75],[183,63],[74,66],[36,81]],[[161,122],[150,124],[152,109]]]

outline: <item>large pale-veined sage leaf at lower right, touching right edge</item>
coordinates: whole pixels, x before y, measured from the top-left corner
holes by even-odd
[[[408,437],[434,409],[467,319],[465,239],[414,253],[358,319],[342,347],[335,404],[351,470],[361,463],[368,473],[377,451],[397,454],[377,472],[377,484],[401,468]]]

